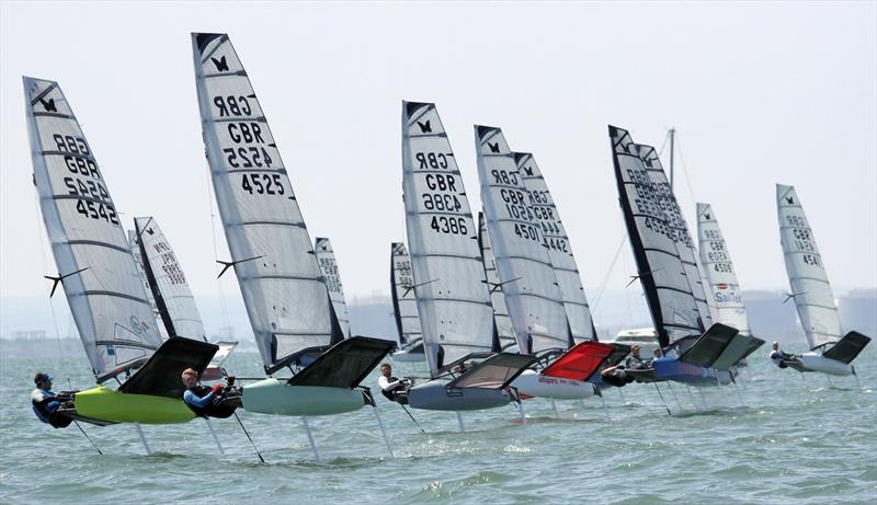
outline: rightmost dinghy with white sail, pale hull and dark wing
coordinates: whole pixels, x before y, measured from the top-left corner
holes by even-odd
[[[776,210],[779,241],[791,285],[789,297],[795,299],[810,346],[810,351],[798,359],[786,363],[798,371],[854,375],[853,360],[868,345],[870,337],[856,331],[843,334],[822,255],[794,186],[776,185]]]

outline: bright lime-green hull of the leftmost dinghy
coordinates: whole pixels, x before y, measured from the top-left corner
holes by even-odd
[[[98,421],[140,424],[175,424],[195,418],[182,399],[121,393],[99,386],[76,393],[77,414]]]

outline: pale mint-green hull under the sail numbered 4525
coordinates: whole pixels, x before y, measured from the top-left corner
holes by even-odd
[[[288,386],[277,379],[243,388],[248,412],[277,415],[332,415],[353,412],[365,404],[362,391],[322,386]]]

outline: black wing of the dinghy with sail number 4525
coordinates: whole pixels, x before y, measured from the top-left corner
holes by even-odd
[[[353,389],[392,352],[396,342],[352,336],[333,345],[289,379],[289,386],[322,386]]]

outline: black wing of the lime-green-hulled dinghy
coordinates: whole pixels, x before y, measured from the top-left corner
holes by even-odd
[[[118,390],[130,394],[181,399],[185,392],[180,378],[183,370],[192,368],[198,375],[203,374],[218,349],[218,345],[203,341],[182,336],[168,338]]]

